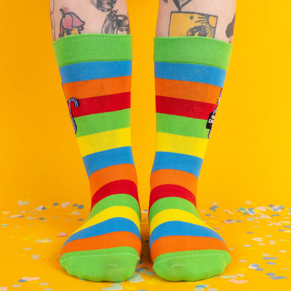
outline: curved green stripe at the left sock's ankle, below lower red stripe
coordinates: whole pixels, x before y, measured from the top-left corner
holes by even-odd
[[[103,198],[97,204],[95,204],[87,220],[91,219],[102,210],[112,206],[128,206],[132,208],[138,215],[139,219],[141,219],[141,210],[138,202],[134,197],[129,194],[113,194]]]

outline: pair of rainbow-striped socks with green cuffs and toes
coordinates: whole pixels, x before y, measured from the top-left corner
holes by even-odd
[[[201,36],[154,41],[150,256],[163,279],[196,281],[221,274],[231,261],[224,240],[199,216],[196,187],[232,46]],[[130,138],[131,35],[70,35],[53,48],[92,201],[60,263],[81,279],[124,281],[142,248]]]

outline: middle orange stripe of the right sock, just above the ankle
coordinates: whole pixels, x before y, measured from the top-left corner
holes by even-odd
[[[197,192],[197,181],[198,179],[193,174],[184,171],[172,169],[157,170],[150,176],[150,191],[160,185],[174,184],[186,188],[195,195]]]

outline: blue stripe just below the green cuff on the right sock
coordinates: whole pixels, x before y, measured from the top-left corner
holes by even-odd
[[[155,78],[199,82],[223,87],[226,71],[208,65],[155,62]]]

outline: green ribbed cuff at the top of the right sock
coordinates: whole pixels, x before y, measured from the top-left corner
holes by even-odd
[[[154,61],[211,65],[227,70],[232,45],[203,36],[160,36],[154,38]]]

